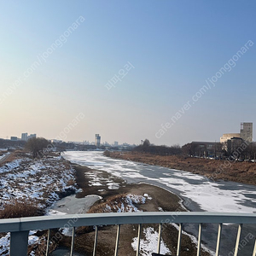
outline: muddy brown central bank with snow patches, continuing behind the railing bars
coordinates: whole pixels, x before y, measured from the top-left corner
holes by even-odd
[[[73,165],[76,170],[76,183],[80,192],[78,198],[88,195],[100,195],[101,200],[90,207],[89,212],[183,212],[186,211],[181,199],[166,189],[149,185],[147,183],[127,184],[111,173],[97,171],[86,166]],[[62,207],[65,207],[62,205]],[[83,211],[79,211],[83,212]],[[177,213],[178,214],[178,213]],[[177,227],[172,224],[163,225],[162,233],[164,253],[168,248],[172,254],[177,253]],[[92,227],[81,227],[76,230],[74,250],[83,255],[90,255],[93,250],[95,231]],[[98,255],[113,255],[116,239],[116,226],[102,226],[98,230]],[[134,255],[137,246],[137,225],[122,225],[120,229],[119,254]],[[141,255],[151,255],[155,252],[158,239],[158,226],[143,225],[142,227]],[[151,245],[151,246],[150,246]],[[63,236],[58,241],[58,247],[70,247],[70,238]],[[184,256],[196,254],[196,245],[191,236],[184,234],[181,245]],[[56,254],[57,255],[57,254]],[[201,255],[210,255],[205,250]]]

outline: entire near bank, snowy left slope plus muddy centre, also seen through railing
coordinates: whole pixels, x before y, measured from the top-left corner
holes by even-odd
[[[0,176],[2,218],[44,215],[46,207],[54,202],[56,202],[55,212],[49,210],[47,211],[50,212],[49,214],[67,214],[71,213],[71,210],[76,214],[85,213],[89,208],[89,212],[185,211],[181,199],[166,189],[147,183],[127,184],[121,177],[113,176],[112,173],[72,165],[56,155],[33,160],[29,154],[24,152],[13,154],[0,166]],[[69,195],[75,189],[79,192],[76,195]],[[90,195],[94,195],[94,198]],[[90,201],[86,198],[88,196]],[[15,201],[12,201],[14,197]],[[61,197],[63,199],[58,201]],[[90,255],[94,236],[93,227],[76,229],[75,251],[81,255]],[[113,255],[115,238],[116,226],[99,227],[97,254]],[[120,231],[120,255],[134,255],[137,246],[136,239],[137,225],[123,225]],[[141,255],[155,252],[158,226],[143,225],[142,239]],[[164,252],[168,253],[170,249],[172,254],[176,253],[177,227],[164,224],[162,239],[161,247]],[[9,234],[2,234],[0,240],[3,245],[0,248],[1,255],[8,255]],[[31,231],[28,255],[43,256],[46,241],[47,230]],[[71,239],[68,230],[52,230],[51,241],[50,252],[55,251],[57,247],[70,247]],[[150,247],[148,243],[154,246]],[[184,234],[181,249],[184,256],[195,254],[195,239],[193,240],[189,234]],[[209,253],[202,250],[201,255],[208,256]]]

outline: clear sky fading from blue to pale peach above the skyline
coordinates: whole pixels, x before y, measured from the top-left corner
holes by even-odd
[[[0,0],[0,137],[183,145],[253,122],[256,2]]]

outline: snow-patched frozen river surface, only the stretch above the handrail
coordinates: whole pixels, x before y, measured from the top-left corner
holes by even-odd
[[[183,198],[195,201],[207,212],[256,213],[256,187],[253,185],[212,182],[190,172],[110,159],[96,151],[69,151],[64,157],[82,166],[110,172],[128,183],[148,182],[170,189]]]

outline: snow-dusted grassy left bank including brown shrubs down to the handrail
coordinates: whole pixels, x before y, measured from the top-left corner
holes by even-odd
[[[0,164],[0,218],[43,215],[60,198],[74,194],[74,169],[61,156],[32,159],[16,152]]]

